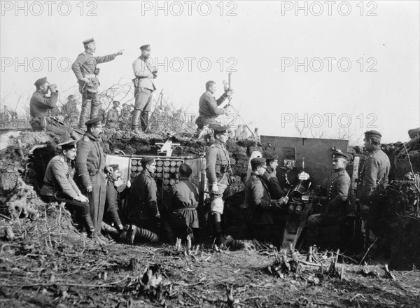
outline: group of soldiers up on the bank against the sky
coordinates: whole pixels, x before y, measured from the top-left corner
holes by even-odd
[[[96,51],[96,43],[93,38],[83,41],[85,51],[78,55],[73,62],[71,69],[77,78],[78,89],[82,95],[82,104],[80,118],[78,120],[78,131],[85,130],[85,123],[92,118],[102,118],[100,114],[101,102],[99,101],[99,67],[97,64],[113,61],[118,55],[123,55],[120,50],[111,55],[94,56]],[[123,104],[125,108],[119,114],[118,106],[120,102],[113,101],[113,108],[109,111],[106,118],[106,124],[109,127],[126,129],[128,121],[131,122],[131,130],[139,134],[149,128],[149,118],[152,107],[153,92],[156,90],[155,78],[158,76],[158,69],[151,62],[151,45],[142,45],[140,47],[141,55],[134,60],[132,69],[134,73],[134,106]],[[48,117],[47,113],[51,109],[55,109],[58,99],[57,85],[48,83],[46,78],[36,80],[36,92],[31,97],[30,102],[30,124],[33,130],[50,130],[60,136],[68,136],[72,130]],[[225,99],[232,97],[232,90],[225,89],[225,92],[219,99],[214,98],[217,90],[216,83],[209,81],[206,83],[206,92],[200,97],[200,116],[197,118],[197,126],[199,132],[203,127],[210,129],[217,125],[216,117],[220,114],[230,112],[230,106],[218,108]],[[47,96],[50,92],[50,97]],[[133,110],[131,110],[133,109]],[[76,107],[72,107],[71,111],[77,111]],[[71,112],[69,111],[69,112]],[[66,112],[68,112],[66,110]],[[78,111],[77,111],[78,113]],[[74,117],[76,113],[69,113]],[[66,121],[64,121],[66,122]],[[122,126],[118,122],[123,123]],[[61,124],[61,125],[60,125]]]

